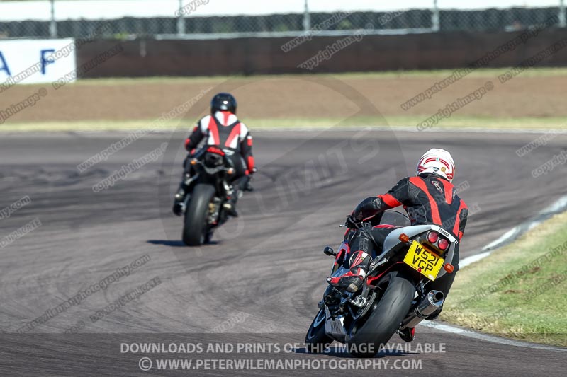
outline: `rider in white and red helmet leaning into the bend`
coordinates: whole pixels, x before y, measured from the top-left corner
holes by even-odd
[[[361,226],[361,223],[377,224],[386,209],[403,205],[412,225],[437,224],[461,240],[466,226],[468,207],[456,194],[451,181],[454,175],[454,161],[449,152],[443,149],[427,151],[417,164],[417,176],[403,178],[390,191],[377,197],[364,199],[348,216],[346,226],[353,229],[349,238],[349,271],[339,277],[328,277],[327,282],[339,290],[358,291],[369,270],[374,250],[381,251],[386,236],[397,226]],[[376,255],[374,255],[376,257]],[[430,290],[442,291],[445,296],[453,284],[459,270],[459,243],[456,245],[451,262],[455,269],[452,274],[431,282]],[[441,313],[439,308],[426,318],[432,320]],[[405,329],[400,333],[403,340],[413,340],[415,329]]]

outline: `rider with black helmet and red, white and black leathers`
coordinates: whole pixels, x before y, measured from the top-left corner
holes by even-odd
[[[224,207],[227,213],[234,217],[238,216],[236,202],[239,191],[253,190],[250,180],[256,171],[252,155],[252,136],[248,127],[236,117],[236,108],[236,99],[230,93],[218,93],[213,97],[210,101],[210,115],[202,117],[185,140],[185,149],[189,151],[189,156],[184,162],[185,173],[191,174],[189,160],[201,156],[208,147],[216,147],[225,153],[232,162],[232,167],[235,168],[235,174],[229,182],[232,185],[232,192]],[[203,140],[205,141],[203,148],[196,151],[198,144]],[[175,195],[173,211],[176,215],[181,215],[181,203],[186,190],[187,187],[182,181]]]

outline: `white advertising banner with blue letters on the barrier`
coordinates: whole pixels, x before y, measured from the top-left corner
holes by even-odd
[[[0,91],[18,83],[51,83],[75,69],[73,38],[0,40]]]

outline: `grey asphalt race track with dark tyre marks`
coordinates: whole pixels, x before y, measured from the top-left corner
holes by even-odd
[[[461,258],[473,255],[565,193],[565,165],[537,178],[532,170],[562,151],[566,135],[519,157],[515,151],[539,134],[258,131],[254,133],[257,190],[241,199],[240,218],[221,228],[212,245],[201,248],[182,245],[182,221],[170,212],[184,158],[184,134],[150,134],[79,173],[79,163],[123,136],[2,134],[0,209],[26,195],[31,202],[0,218],[0,236],[36,218],[40,223],[35,224],[41,225],[1,244],[0,375],[564,376],[565,352],[425,327],[418,327],[412,349],[384,350],[374,359],[378,366],[357,371],[299,367],[166,373],[154,364],[151,371],[142,372],[141,355],[123,352],[121,344],[301,344],[332,262],[321,250],[337,245],[343,233],[338,226],[359,200],[383,193],[413,174],[423,152],[442,146],[453,154],[454,183],[463,187],[460,195],[473,208]],[[164,142],[169,143],[164,156],[108,190],[94,192],[94,185],[114,170]],[[106,289],[35,323],[27,334],[16,333],[79,290],[133,263],[135,269]],[[155,286],[139,297],[119,300],[152,279]],[[116,305],[102,312],[111,303]],[[103,315],[99,318],[96,313]],[[66,330],[77,333],[66,335]],[[391,343],[398,342],[395,335]],[[426,344],[443,352],[417,350],[427,349]],[[340,350],[305,354],[296,345],[268,354],[149,356],[353,360]],[[420,361],[421,370],[393,368],[396,362],[410,361]]]

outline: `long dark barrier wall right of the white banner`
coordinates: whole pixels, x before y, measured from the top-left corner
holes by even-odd
[[[330,57],[320,54],[329,59],[318,60],[317,66],[312,64],[311,71],[454,69],[467,66],[498,47],[499,53],[490,58],[488,66],[516,66],[563,38],[567,40],[567,30],[561,29],[548,29],[537,35],[521,31],[366,35]],[[313,37],[288,52],[283,52],[281,46],[291,38],[95,40],[77,50],[77,65],[96,59],[120,43],[123,52],[82,72],[81,76],[296,74],[310,72],[299,65],[319,52],[331,52],[330,46],[342,39]],[[539,66],[567,66],[567,48],[547,57]]]

